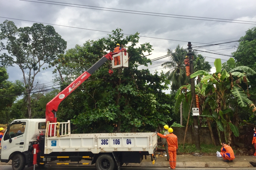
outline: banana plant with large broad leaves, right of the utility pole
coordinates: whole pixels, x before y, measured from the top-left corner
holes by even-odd
[[[235,64],[234,59],[230,58],[227,61],[228,64]],[[213,98],[216,104],[213,106],[214,112],[218,114],[217,128],[224,132],[226,141],[231,143],[231,131],[235,136],[239,136],[238,129],[235,127],[231,120],[229,112],[223,113],[223,110],[227,110],[226,101],[229,97],[234,97],[241,108],[250,107],[252,111],[256,111],[256,107],[253,102],[248,98],[248,75],[253,75],[255,72],[246,66],[236,67],[229,72],[225,69],[221,69],[221,59],[216,59],[214,62],[216,72],[213,74],[207,74],[202,71],[197,71],[190,77],[194,78],[198,75],[204,75],[201,80],[202,91],[211,88],[211,98]],[[241,83],[247,85],[246,91],[240,86]],[[210,86],[210,87],[209,87]],[[207,101],[205,101],[207,102]]]

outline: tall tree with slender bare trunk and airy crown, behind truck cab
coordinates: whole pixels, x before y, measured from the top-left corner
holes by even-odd
[[[8,54],[0,56],[2,66],[17,64],[23,73],[27,95],[28,117],[31,119],[31,91],[38,84],[36,75],[52,66],[52,61],[64,53],[67,42],[50,25],[34,23],[31,27],[17,28],[14,22],[5,20],[0,24],[0,50]],[[45,64],[49,66],[42,68]]]

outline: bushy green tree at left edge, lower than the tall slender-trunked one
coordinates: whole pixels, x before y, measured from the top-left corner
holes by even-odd
[[[8,113],[10,107],[16,98],[24,91],[22,83],[20,81],[10,82],[5,67],[0,67],[0,123],[4,124],[8,122]]]

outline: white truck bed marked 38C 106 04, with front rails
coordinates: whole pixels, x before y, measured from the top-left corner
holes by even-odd
[[[69,122],[65,123],[69,124]],[[55,123],[49,124],[55,126]],[[68,125],[68,128],[69,127]],[[46,132],[48,132],[48,128],[49,125],[47,125]],[[52,126],[51,129],[53,128],[56,129],[56,127]],[[64,131],[63,126],[61,131]],[[153,132],[70,134],[69,129],[68,131],[68,134],[65,132],[65,134],[60,137],[57,137],[55,134],[49,137],[46,134],[44,153],[147,151],[149,154],[153,154],[154,149],[157,147],[157,134]]]

